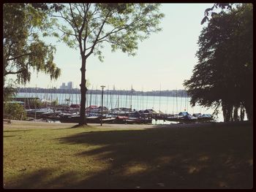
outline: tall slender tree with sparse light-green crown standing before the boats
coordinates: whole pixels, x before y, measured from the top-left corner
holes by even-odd
[[[81,64],[80,125],[86,124],[86,64],[92,53],[102,61],[102,47],[109,44],[113,51],[135,55],[138,40],[160,31],[159,4],[64,4],[59,14],[60,37],[69,47],[79,48]],[[57,36],[57,34],[53,34]]]

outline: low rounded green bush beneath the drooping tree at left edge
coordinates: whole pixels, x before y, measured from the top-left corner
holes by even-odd
[[[26,110],[21,104],[18,103],[5,103],[4,104],[4,116],[10,116],[15,120],[26,120]]]

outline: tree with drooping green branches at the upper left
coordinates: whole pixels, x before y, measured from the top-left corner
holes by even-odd
[[[20,3],[6,3],[3,11],[4,82],[15,74],[18,83],[26,84],[31,69],[50,74],[51,79],[58,78],[61,71],[53,63],[55,47],[39,38],[40,31],[50,28],[47,12]]]

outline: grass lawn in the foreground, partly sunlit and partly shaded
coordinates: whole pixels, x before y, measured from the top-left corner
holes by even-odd
[[[4,123],[4,188],[252,188],[252,124]]]

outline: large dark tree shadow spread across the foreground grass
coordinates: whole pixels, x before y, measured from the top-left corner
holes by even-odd
[[[33,173],[10,188],[252,188],[251,126],[91,131],[59,139],[102,146],[75,155],[108,168],[86,179],[70,172],[43,183],[50,171]]]

